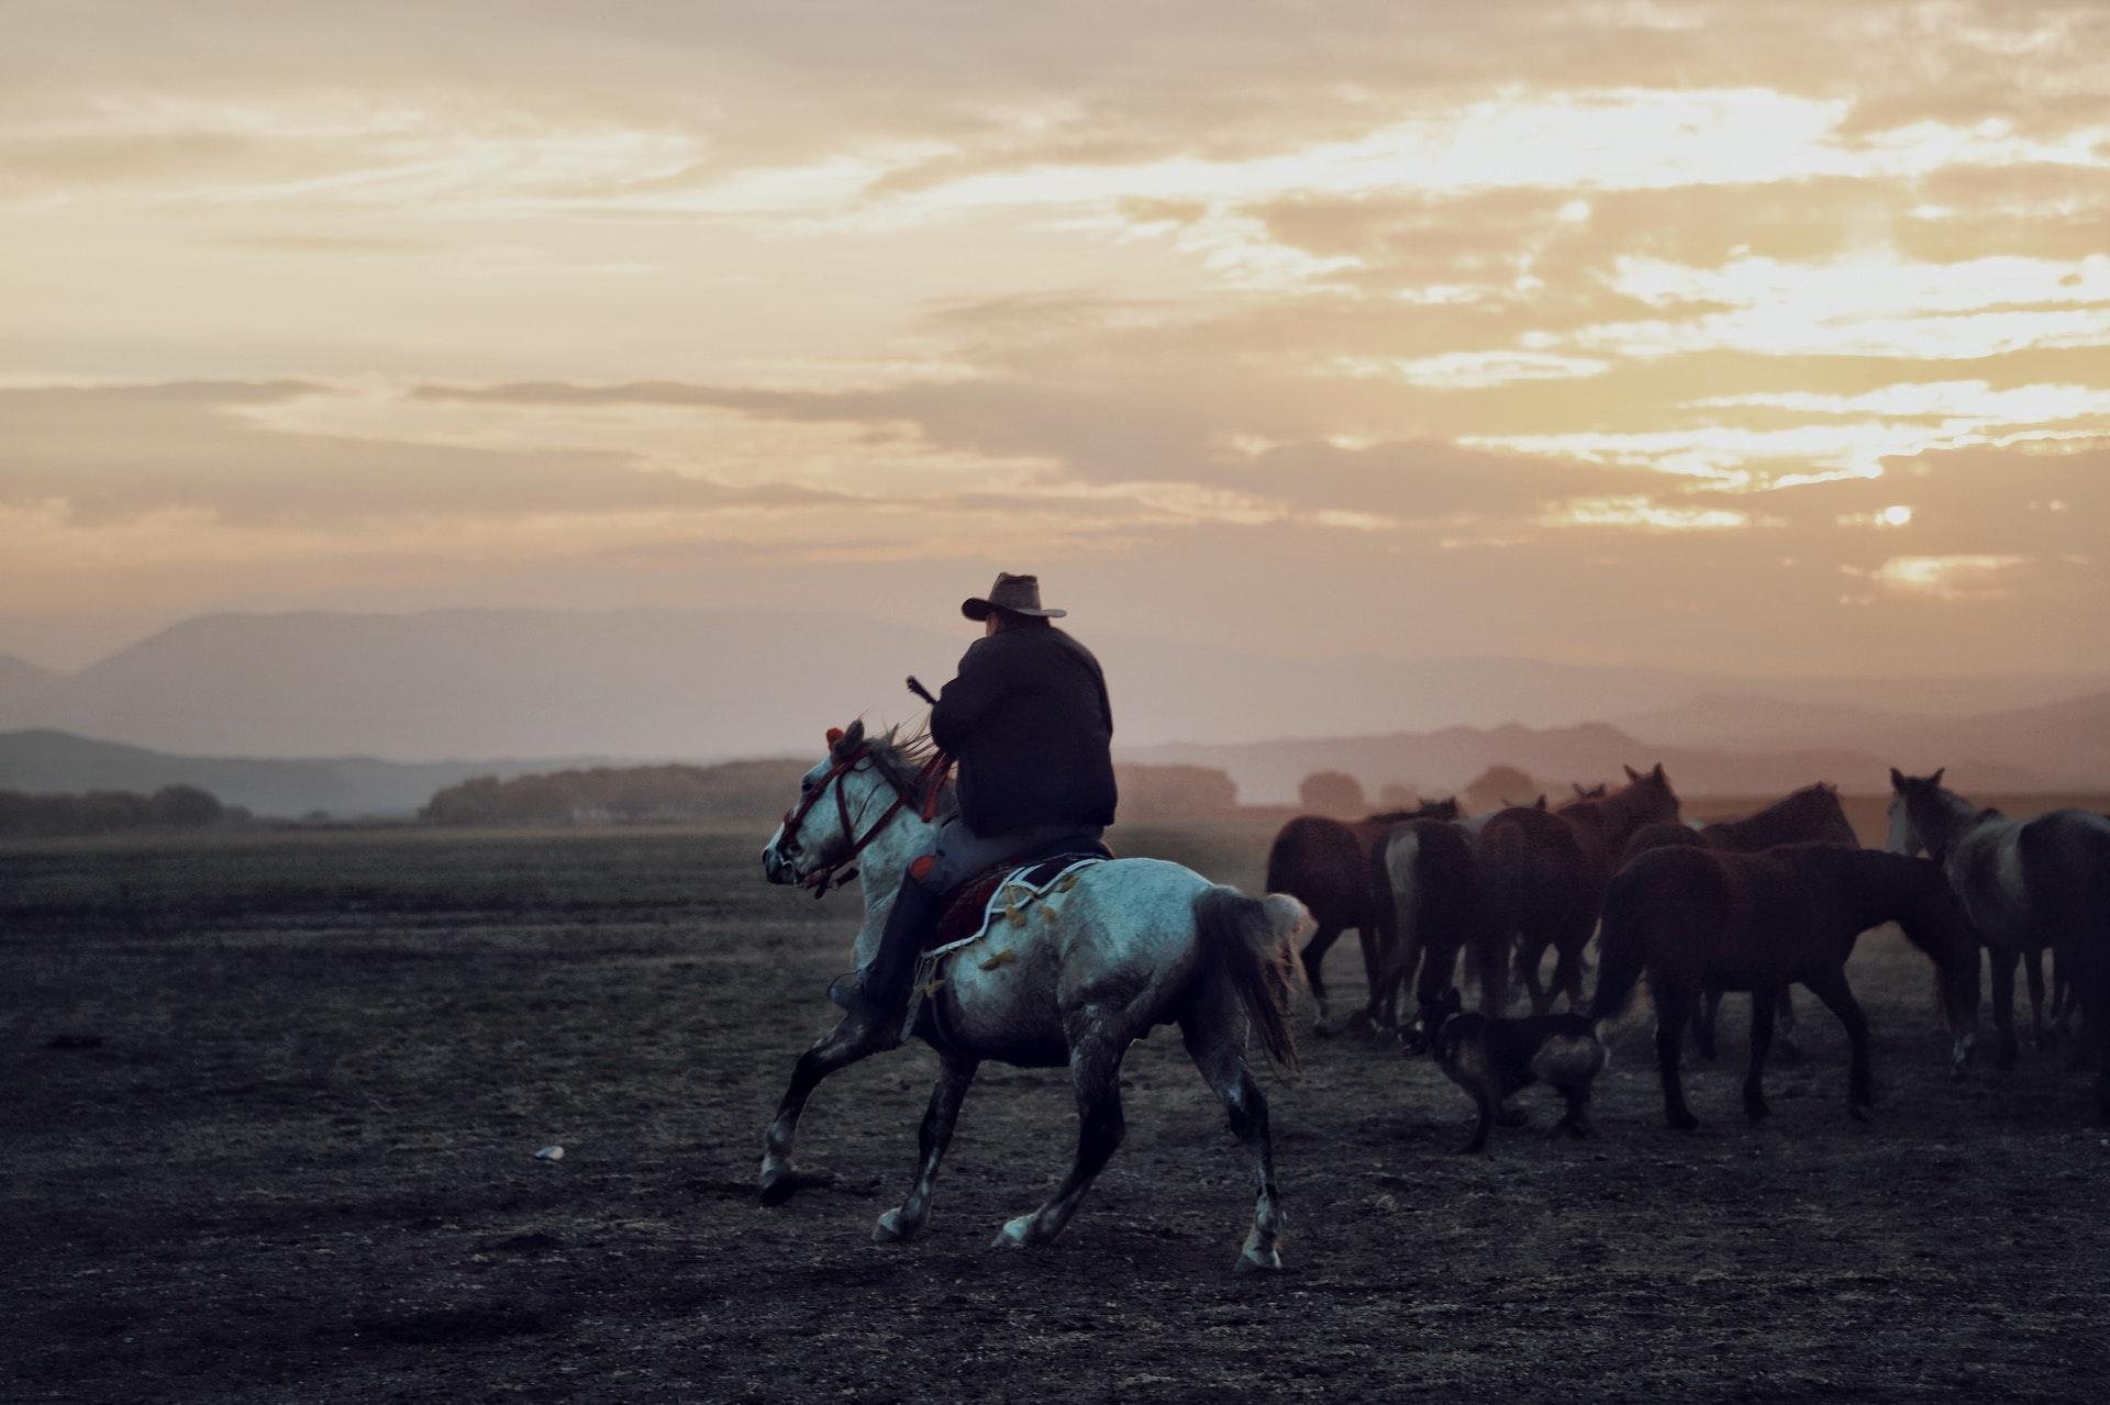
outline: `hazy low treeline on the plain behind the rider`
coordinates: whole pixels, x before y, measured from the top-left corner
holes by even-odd
[[[637,825],[781,814],[810,762],[597,766],[449,785],[418,812],[430,825]],[[1209,766],[1116,766],[1123,819],[1230,814],[1239,787]]]

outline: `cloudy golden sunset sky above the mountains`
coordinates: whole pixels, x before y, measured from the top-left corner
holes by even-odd
[[[2102,667],[2110,6],[0,2],[0,652]]]

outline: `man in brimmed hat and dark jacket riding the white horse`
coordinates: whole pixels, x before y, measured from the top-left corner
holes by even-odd
[[[827,992],[888,1044],[950,892],[998,865],[1104,852],[1114,823],[1114,713],[1099,660],[1051,622],[1068,612],[1040,605],[1036,576],[998,574],[960,614],[983,635],[931,709],[931,738],[960,768],[960,812],[909,865],[878,954]]]

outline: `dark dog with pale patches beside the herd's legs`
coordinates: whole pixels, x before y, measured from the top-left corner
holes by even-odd
[[[1606,1065],[1604,1040],[1585,1015],[1530,1015],[1526,1019],[1488,1019],[1469,1015],[1458,987],[1422,1011],[1424,1040],[1437,1067],[1473,1099],[1479,1124],[1460,1152],[1481,1152],[1488,1129],[1500,1118],[1521,1122],[1521,1114],[1502,1116],[1502,1101],[1513,1093],[1545,1082],[1559,1089],[1568,1114],[1553,1124],[1570,1137],[1595,1137],[1589,1124],[1589,1095]],[[1405,1051],[1407,1055],[1414,1048]]]

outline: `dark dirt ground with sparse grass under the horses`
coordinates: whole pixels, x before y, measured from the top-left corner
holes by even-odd
[[[1285,1272],[1173,1032],[1053,1247],[998,1253],[1074,1135],[990,1067],[920,1243],[876,1247],[933,1076],[823,1086],[817,1183],[760,1131],[827,1025],[855,894],[762,833],[287,833],[0,852],[8,1401],[2104,1399],[2110,1133],[2057,1053],[1956,1084],[1924,962],[1874,932],[1878,1118],[1802,998],[1775,1116],[1726,1065],[1661,1124],[1646,1025],[1597,1141],[1496,1131],[1422,1061],[1306,1038],[1262,1074]],[[1255,886],[1266,827],[1123,827]],[[1359,985],[1353,941],[1329,975]],[[1300,1019],[1302,1025],[1306,1017]],[[561,1160],[536,1150],[561,1143]]]

